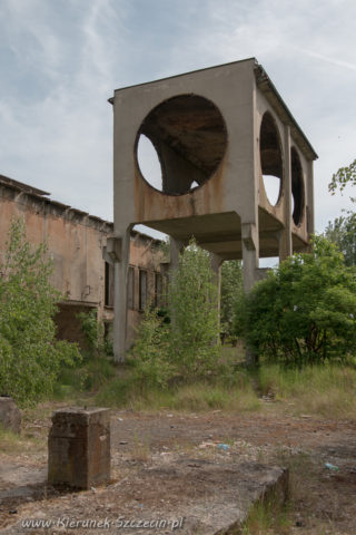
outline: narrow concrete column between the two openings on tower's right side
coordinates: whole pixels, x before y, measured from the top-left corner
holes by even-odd
[[[290,163],[290,127],[285,126],[285,166],[284,166],[284,228],[279,235],[279,262],[293,254],[291,241],[291,163]]]

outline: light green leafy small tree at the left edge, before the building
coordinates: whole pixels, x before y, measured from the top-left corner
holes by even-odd
[[[49,282],[46,253],[26,241],[22,220],[11,222],[0,265],[0,393],[22,406],[50,393],[61,363],[79,359],[75,344],[55,339],[60,293]]]

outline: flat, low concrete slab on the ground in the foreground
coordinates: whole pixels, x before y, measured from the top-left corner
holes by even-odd
[[[52,521],[51,533],[63,533],[59,519],[105,521],[105,533],[132,533],[123,522],[141,522],[136,534],[168,534],[172,522],[180,522],[179,534],[227,534],[244,522],[251,506],[264,496],[284,500],[288,492],[288,471],[258,463],[217,461],[181,456],[157,456],[152,463],[137,467],[127,477],[91,492],[53,495],[47,489],[47,499],[39,498],[36,487],[33,500],[23,507],[19,502],[13,525],[1,533],[28,533],[24,518]],[[10,492],[11,490],[11,492]],[[14,488],[9,489],[13,496]],[[44,493],[44,483],[43,483]],[[42,496],[43,497],[43,496]],[[19,498],[20,499],[20,498]],[[6,499],[0,497],[0,507]],[[80,504],[80,506],[79,506]],[[170,521],[166,527],[144,527],[144,522]],[[102,528],[88,529],[78,524],[76,534],[103,533]],[[37,528],[38,529],[38,528]],[[43,533],[38,529],[36,533]],[[236,532],[234,532],[236,533]]]

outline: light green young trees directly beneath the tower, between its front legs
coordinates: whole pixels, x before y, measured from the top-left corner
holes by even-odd
[[[209,255],[194,241],[169,281],[168,302],[170,323],[156,310],[145,313],[131,350],[137,377],[160,387],[208,378],[219,356],[218,289]]]

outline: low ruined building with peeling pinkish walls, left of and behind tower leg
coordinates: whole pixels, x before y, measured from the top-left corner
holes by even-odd
[[[49,193],[0,175],[0,260],[3,259],[12,217],[23,217],[27,239],[46,241],[53,260],[52,284],[62,293],[56,322],[58,337],[82,341],[79,312],[96,309],[106,327],[113,319],[113,270],[103,260],[103,247],[112,223],[49,198]],[[160,299],[160,242],[132,231],[128,269],[127,340],[149,300]],[[110,260],[110,259],[108,259]]]

